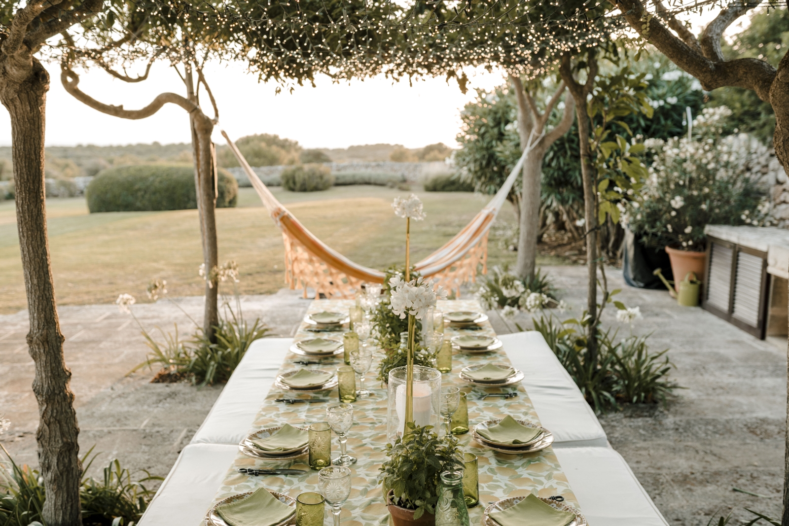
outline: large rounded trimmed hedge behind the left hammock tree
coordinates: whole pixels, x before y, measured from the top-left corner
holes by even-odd
[[[235,207],[238,184],[219,169],[216,206]],[[85,189],[91,212],[187,210],[197,207],[193,166],[141,164],[100,171]]]

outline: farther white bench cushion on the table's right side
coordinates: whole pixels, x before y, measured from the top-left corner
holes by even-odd
[[[529,330],[502,334],[499,340],[512,364],[523,371],[523,386],[540,422],[553,433],[555,448],[608,446],[608,437],[594,411],[542,334]]]

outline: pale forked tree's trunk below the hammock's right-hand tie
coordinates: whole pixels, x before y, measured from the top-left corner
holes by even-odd
[[[522,143],[525,144],[525,143]],[[543,148],[529,152],[523,163],[521,223],[518,231],[518,259],[515,274],[530,281],[537,263],[537,238],[540,236],[540,175],[545,155]]]

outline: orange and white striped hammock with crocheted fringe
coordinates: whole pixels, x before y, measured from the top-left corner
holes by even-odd
[[[354,291],[361,289],[364,282],[383,283],[383,272],[353,263],[306,229],[296,216],[277,200],[263,181],[260,181],[260,177],[257,177],[224,130],[222,135],[249,177],[264,207],[282,230],[282,241],[285,244],[285,281],[290,289],[304,289],[304,297],[307,297],[307,288],[311,287],[315,289],[316,298],[321,294],[327,298],[352,298]],[[507,199],[510,188],[518,178],[518,172],[532,145],[536,143],[537,141],[529,140],[529,147],[524,148],[521,159],[488,206],[443,247],[414,265],[421,275],[433,278],[436,284],[443,285],[445,289],[454,290],[459,297],[460,285],[475,281],[479,265],[482,265],[483,274],[487,272],[488,232]]]

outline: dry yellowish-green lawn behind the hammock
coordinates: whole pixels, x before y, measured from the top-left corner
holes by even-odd
[[[342,186],[325,192],[294,193],[273,188],[282,203],[332,248],[368,267],[402,263],[405,222],[391,200],[408,192],[377,186]],[[487,196],[462,192],[417,192],[428,218],[412,226],[417,261],[466,225]],[[170,295],[203,291],[197,212],[88,214],[84,199],[47,201],[50,252],[59,304],[114,301],[130,293],[147,301],[151,278],[167,280]],[[510,205],[499,219],[512,222]],[[243,293],[273,293],[283,282],[282,236],[252,188],[241,188],[239,206],[217,211],[219,260],[241,267]],[[515,253],[489,244],[491,264],[514,262]],[[549,262],[544,262],[549,263]],[[13,201],[0,202],[0,312],[26,307]]]

